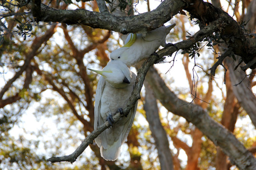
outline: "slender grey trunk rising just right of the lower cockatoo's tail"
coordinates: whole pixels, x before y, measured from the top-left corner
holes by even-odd
[[[169,149],[169,141],[165,129],[159,117],[157,102],[153,90],[146,80],[147,76],[144,82],[146,90],[144,110],[146,111],[146,119],[155,140],[161,170],[174,170],[173,156]]]

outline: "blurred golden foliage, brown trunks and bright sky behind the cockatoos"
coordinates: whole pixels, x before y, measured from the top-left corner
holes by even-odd
[[[95,0],[72,2],[67,5],[71,1],[53,0],[44,4],[99,11]],[[103,68],[110,52],[123,45],[122,36],[84,25],[37,23],[26,4],[20,7],[14,0],[0,3],[0,169],[168,170],[172,164],[174,170],[236,169],[198,128],[166,110],[156,99],[150,83],[155,79],[150,76],[155,70],[146,77],[133,127],[117,161],[105,161],[98,146],[91,144],[72,165],[47,162],[51,156],[72,153],[93,131],[99,76],[87,68]],[[125,6],[126,10],[112,8],[112,12],[137,15],[136,12],[152,10],[160,3],[137,1],[134,10]],[[250,18],[246,29],[255,34],[256,0],[210,3],[222,7],[240,23],[247,23]],[[167,36],[167,42],[180,42],[199,30],[188,14],[178,14],[170,23],[176,26]],[[191,102],[191,110],[193,105],[207,110],[212,119],[233,132],[255,155],[256,130],[247,115],[250,109],[255,114],[256,106],[249,103],[255,99],[243,98],[255,97],[255,70],[238,74],[233,71],[235,64],[227,59],[226,84],[225,70],[221,67],[211,80],[208,69],[216,62],[220,50],[210,48],[206,42],[198,46],[200,55],[192,58],[179,51],[152,69],[157,70],[179,98]],[[136,72],[135,68],[132,70]],[[247,93],[239,94],[241,89]]]

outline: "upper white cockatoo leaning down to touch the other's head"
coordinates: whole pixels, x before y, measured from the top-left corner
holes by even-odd
[[[142,34],[128,34],[125,45],[110,53],[110,59],[119,59],[128,67],[148,58],[160,45],[165,47],[166,35],[176,24],[161,26],[155,30]]]

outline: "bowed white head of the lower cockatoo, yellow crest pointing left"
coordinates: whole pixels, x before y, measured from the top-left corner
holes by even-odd
[[[120,60],[111,60],[102,71],[93,70],[103,76],[103,78],[115,88],[124,88],[130,84],[132,79],[132,72]]]

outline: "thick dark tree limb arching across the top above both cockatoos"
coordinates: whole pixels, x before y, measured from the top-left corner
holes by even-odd
[[[242,57],[245,63],[256,58],[256,39],[247,37],[238,23],[220,8],[216,8],[203,0],[165,0],[155,10],[132,17],[118,17],[108,13],[105,2],[97,0],[101,12],[85,9],[61,10],[41,4],[40,21],[63,22],[66,24],[82,24],[93,28],[102,28],[117,31],[122,34],[146,33],[169,21],[181,9],[190,12],[192,18],[197,18],[202,24],[225,18],[227,27],[221,29],[221,38],[233,47],[235,54]],[[256,68],[253,63],[248,66]]]

